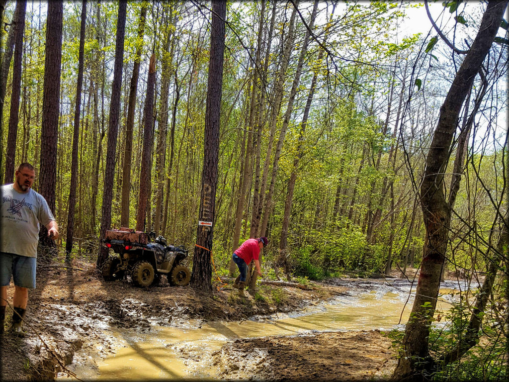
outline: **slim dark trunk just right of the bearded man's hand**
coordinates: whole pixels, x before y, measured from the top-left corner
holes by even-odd
[[[65,243],[66,260],[71,260],[72,233],[74,230],[74,207],[76,205],[76,182],[78,171],[79,113],[81,108],[81,88],[83,86],[83,56],[85,46],[85,25],[87,23],[87,0],[81,4],[81,28],[79,31],[78,81],[76,85],[76,109],[74,111],[74,131],[72,138],[71,184],[67,215],[67,237]]]

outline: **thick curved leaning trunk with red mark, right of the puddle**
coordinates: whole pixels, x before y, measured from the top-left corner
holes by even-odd
[[[490,50],[506,5],[507,2],[496,0],[488,3],[477,36],[440,108],[438,125],[426,158],[426,170],[420,188],[426,227],[421,271],[411,318],[406,325],[403,338],[404,353],[394,370],[394,378],[422,379],[433,364],[428,352],[429,333],[438,297],[451,216],[451,208],[443,192],[444,169],[461,106]]]

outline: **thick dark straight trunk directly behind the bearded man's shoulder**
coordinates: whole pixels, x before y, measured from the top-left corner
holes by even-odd
[[[60,72],[62,64],[62,0],[48,3],[46,21],[46,48],[44,60],[44,90],[42,100],[41,162],[39,165],[39,193],[55,212],[56,184],[56,140],[59,128],[60,111]],[[44,247],[54,247],[48,239],[46,227],[41,225],[40,243]]]

